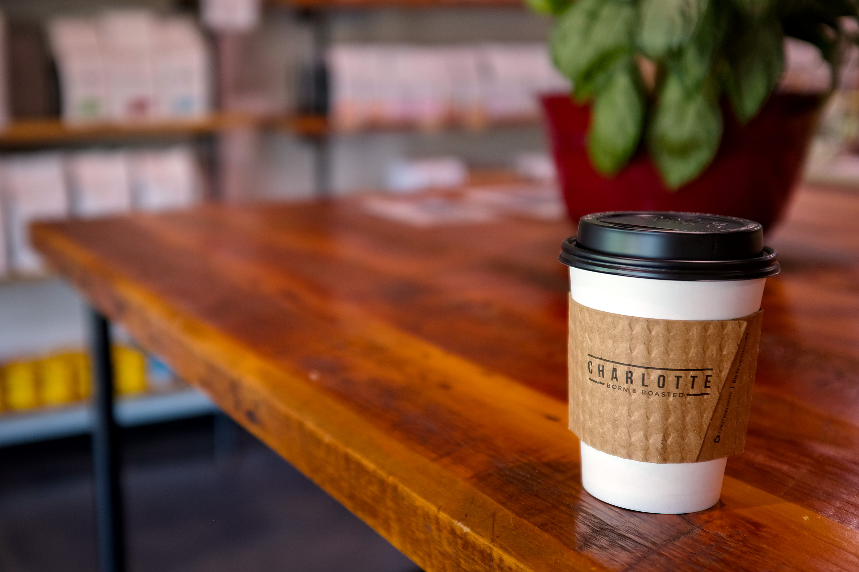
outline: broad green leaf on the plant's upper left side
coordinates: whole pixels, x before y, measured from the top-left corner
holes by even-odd
[[[577,99],[587,99],[633,50],[636,9],[629,0],[577,0],[549,39],[557,69],[573,82]]]

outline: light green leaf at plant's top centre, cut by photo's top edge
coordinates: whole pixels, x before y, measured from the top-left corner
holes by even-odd
[[[691,39],[709,0],[642,0],[638,41],[644,55],[664,57]]]

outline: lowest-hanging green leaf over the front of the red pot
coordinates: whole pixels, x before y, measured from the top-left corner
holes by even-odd
[[[650,156],[670,189],[698,177],[716,156],[722,111],[712,79],[697,90],[668,74],[648,129]]]

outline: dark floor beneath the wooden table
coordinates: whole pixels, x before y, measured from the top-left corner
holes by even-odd
[[[125,432],[130,572],[416,569],[265,445],[214,428]],[[94,572],[92,494],[88,437],[0,449],[0,570]]]

